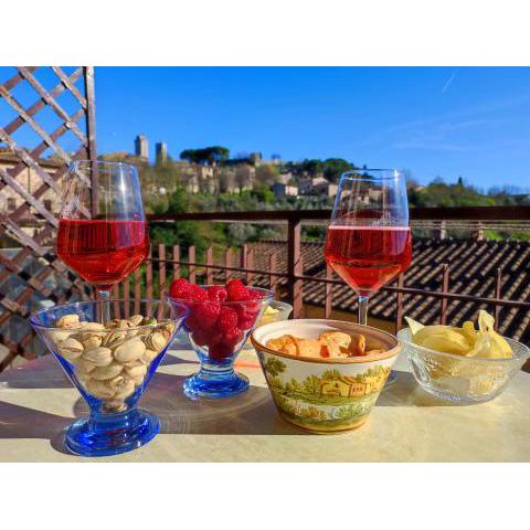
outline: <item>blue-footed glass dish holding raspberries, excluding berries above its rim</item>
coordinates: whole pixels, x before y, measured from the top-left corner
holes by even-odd
[[[252,289],[259,298],[214,303],[169,297],[172,304],[184,305],[189,311],[183,329],[201,362],[199,372],[184,381],[188,398],[227,398],[248,389],[248,379],[234,371],[234,361],[274,297],[272,290]],[[230,326],[221,326],[220,311],[231,315]]]

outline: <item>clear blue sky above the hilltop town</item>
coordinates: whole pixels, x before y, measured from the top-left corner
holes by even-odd
[[[99,152],[145,132],[151,157],[223,145],[530,187],[530,68],[97,67],[96,98]]]

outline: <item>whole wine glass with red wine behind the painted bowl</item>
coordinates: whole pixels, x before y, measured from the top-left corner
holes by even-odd
[[[326,237],[326,262],[359,296],[367,325],[370,296],[412,261],[406,183],[398,169],[342,174]]]

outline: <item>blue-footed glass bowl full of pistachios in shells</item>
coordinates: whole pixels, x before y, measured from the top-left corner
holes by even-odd
[[[30,317],[91,411],[66,432],[72,453],[116,455],[158,433],[157,416],[137,404],[186,315],[167,301],[92,300]]]

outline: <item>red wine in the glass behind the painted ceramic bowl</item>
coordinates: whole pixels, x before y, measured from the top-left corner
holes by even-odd
[[[326,261],[359,295],[370,296],[409,268],[409,226],[331,225]]]

